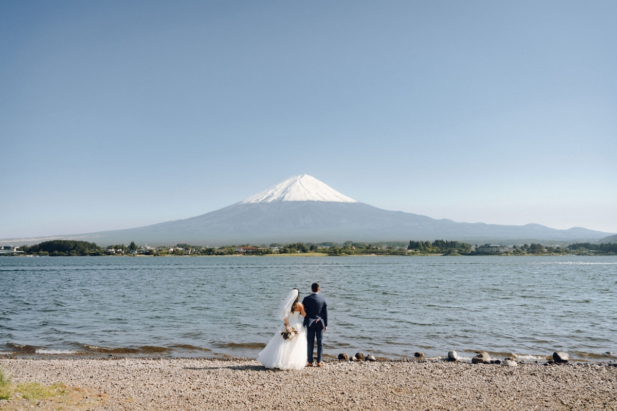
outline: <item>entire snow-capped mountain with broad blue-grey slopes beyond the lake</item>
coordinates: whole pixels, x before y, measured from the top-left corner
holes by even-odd
[[[353,200],[304,174],[291,177],[239,203],[201,216],[135,229],[55,238],[86,240],[99,245],[135,241],[149,245],[190,243],[213,246],[346,240],[406,242],[437,238],[478,243],[503,240],[591,242],[608,234],[581,227],[557,230],[540,224],[502,226],[455,222],[382,210]],[[28,240],[28,243],[33,242],[36,239]]]

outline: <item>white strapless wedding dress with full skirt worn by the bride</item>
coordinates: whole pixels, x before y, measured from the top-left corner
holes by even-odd
[[[287,320],[298,333],[291,340],[284,340],[280,332],[285,330],[285,324],[281,325],[257,356],[257,361],[266,368],[299,370],[307,363],[307,334],[302,325],[304,318],[299,311],[296,311],[289,312]]]

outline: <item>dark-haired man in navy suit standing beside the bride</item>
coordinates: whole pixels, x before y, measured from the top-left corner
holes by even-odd
[[[317,365],[323,367],[321,364],[321,354],[323,353],[323,333],[328,330],[328,304],[326,299],[319,295],[318,283],[313,283],[311,286],[313,293],[306,296],[302,300],[304,311],[306,311],[306,317],[304,317],[304,327],[307,328],[307,354],[309,364],[307,367],[313,366],[313,348],[315,348],[315,337],[317,337]]]

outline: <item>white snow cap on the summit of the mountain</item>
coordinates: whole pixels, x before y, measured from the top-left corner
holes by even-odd
[[[337,203],[357,203],[358,201],[334,190],[308,174],[289,177],[265,191],[240,201],[247,203],[271,203],[272,201],[333,201]]]

